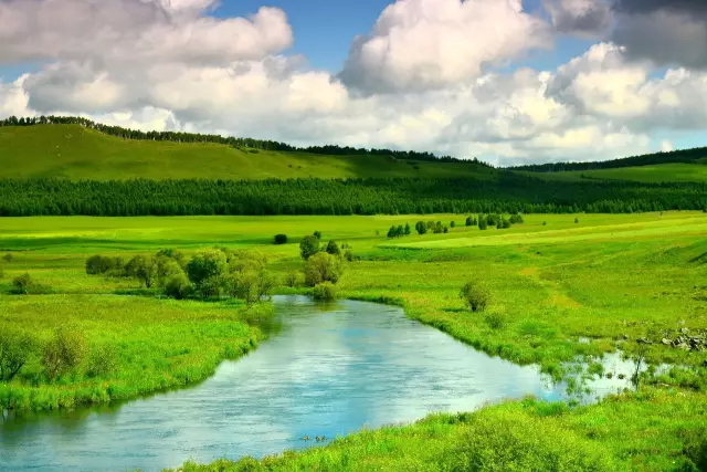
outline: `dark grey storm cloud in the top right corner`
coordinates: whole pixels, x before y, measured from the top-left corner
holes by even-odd
[[[707,67],[707,2],[618,0],[612,40],[632,59],[658,65]]]

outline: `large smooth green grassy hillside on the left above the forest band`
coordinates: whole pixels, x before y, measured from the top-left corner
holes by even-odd
[[[78,125],[0,127],[0,178],[72,180],[481,177],[494,169],[381,156],[241,150],[217,144],[130,140]]]

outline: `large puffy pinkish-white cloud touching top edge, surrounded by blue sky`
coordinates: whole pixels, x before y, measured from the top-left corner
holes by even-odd
[[[340,77],[366,93],[441,88],[550,42],[520,0],[399,0],[354,41]]]

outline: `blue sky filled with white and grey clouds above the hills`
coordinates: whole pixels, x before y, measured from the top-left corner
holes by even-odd
[[[495,165],[707,146],[704,0],[0,0],[0,118]]]

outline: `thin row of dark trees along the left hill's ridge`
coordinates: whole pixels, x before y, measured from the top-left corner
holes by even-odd
[[[104,125],[95,123],[91,119],[78,116],[36,116],[21,117],[11,116],[0,120],[1,126],[35,126],[35,125],[80,125],[85,128],[95,129],[97,132],[116,136],[124,139],[136,140],[158,140],[173,143],[215,143],[231,146],[238,149],[260,149],[276,150],[286,153],[309,153],[317,155],[337,155],[337,156],[382,156],[393,159],[403,160],[424,160],[424,161],[442,161],[442,162],[468,162],[492,167],[489,164],[482,162],[476,158],[458,159],[452,156],[437,157],[432,153],[419,153],[414,150],[394,150],[394,149],[376,149],[376,148],[355,148],[350,146],[309,146],[297,147],[286,143],[279,143],[266,139],[236,138],[233,136],[205,135],[197,133],[181,132],[140,132],[137,129],[128,129],[120,126]]]

